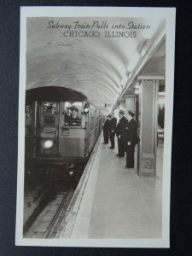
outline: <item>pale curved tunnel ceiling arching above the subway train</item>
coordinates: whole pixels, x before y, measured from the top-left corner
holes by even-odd
[[[131,56],[148,41],[143,37],[143,31],[137,31],[137,38],[64,38],[63,29],[48,28],[49,20],[55,23],[59,20],[61,24],[73,24],[74,20],[79,20],[81,24],[89,24],[94,18],[27,18],[26,90],[62,86],[82,92],[96,108],[113,103]],[[102,24],[102,18],[95,20]],[[127,26],[130,21],[153,24],[136,18],[105,20],[108,20],[108,27],[113,24]],[[100,28],[99,31],[106,29]]]

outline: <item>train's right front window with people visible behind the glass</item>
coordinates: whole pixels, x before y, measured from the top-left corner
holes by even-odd
[[[64,125],[81,126],[82,102],[65,102]]]

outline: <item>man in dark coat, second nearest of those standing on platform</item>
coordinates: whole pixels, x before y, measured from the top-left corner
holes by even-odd
[[[127,119],[125,119],[125,111],[119,111],[119,122],[116,127],[116,135],[118,137],[118,154],[117,157],[125,156],[125,143],[123,140],[123,132],[125,131],[125,127],[127,125]]]

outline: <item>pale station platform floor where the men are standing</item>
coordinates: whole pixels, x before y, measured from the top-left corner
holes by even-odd
[[[125,169],[117,141],[114,149],[102,142],[101,134],[57,238],[160,238],[163,148],[157,148],[156,177],[141,178],[137,148],[135,168]]]

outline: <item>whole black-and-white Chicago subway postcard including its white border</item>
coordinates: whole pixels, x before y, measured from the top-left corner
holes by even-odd
[[[21,7],[15,243],[169,247],[174,8]]]

